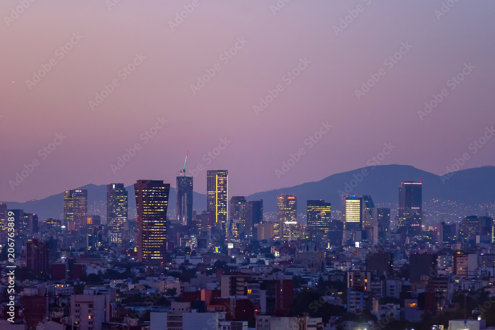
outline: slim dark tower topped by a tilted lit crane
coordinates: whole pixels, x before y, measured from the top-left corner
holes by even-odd
[[[175,213],[177,220],[181,225],[193,224],[193,177],[186,176],[186,160],[184,161],[184,168],[179,171],[177,176],[177,207]]]

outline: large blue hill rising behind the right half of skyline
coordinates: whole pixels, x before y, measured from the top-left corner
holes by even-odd
[[[361,178],[364,169],[368,175]],[[361,179],[361,182],[358,183],[357,179]],[[263,207],[266,211],[276,210],[275,200],[280,194],[296,195],[298,212],[305,212],[306,200],[313,199],[323,199],[332,203],[332,208],[340,209],[342,202],[339,191],[348,192],[350,195],[371,195],[375,204],[396,204],[398,187],[402,181],[421,181],[424,202],[432,199],[469,205],[495,202],[494,166],[463,169],[454,172],[447,179],[444,178],[444,182],[439,175],[409,165],[363,167],[334,174],[320,181],[255,193],[246,198],[247,200],[263,198]]]

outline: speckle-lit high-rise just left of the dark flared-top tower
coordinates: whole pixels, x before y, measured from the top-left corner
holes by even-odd
[[[111,243],[122,243],[128,215],[127,198],[127,190],[123,183],[109,183],[106,185],[106,223],[111,229]]]

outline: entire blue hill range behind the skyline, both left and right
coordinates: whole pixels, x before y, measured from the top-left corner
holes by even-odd
[[[367,173],[367,175],[362,175]],[[276,197],[281,194],[297,196],[298,213],[306,211],[306,200],[323,199],[332,203],[332,208],[340,210],[339,192],[351,195],[371,195],[375,204],[392,203],[396,205],[398,186],[402,181],[421,181],[423,183],[423,201],[437,199],[466,205],[484,205],[495,203],[495,167],[483,166],[454,172],[444,179],[408,165],[379,165],[363,167],[352,171],[328,176],[320,181],[307,182],[294,187],[259,192],[246,197],[249,200],[264,201],[264,211],[276,211]],[[445,183],[445,184],[444,184]],[[88,189],[88,213],[106,214],[106,185],[89,184],[79,189]],[[126,187],[129,192],[129,217],[136,216],[134,186]],[[175,214],[177,192],[170,188],[169,217]],[[194,209],[198,212],[206,208],[206,195],[194,193]],[[5,203],[5,202],[4,202]],[[22,208],[24,212],[38,213],[40,219],[63,217],[63,192],[42,200],[24,203],[6,202],[9,209]]]

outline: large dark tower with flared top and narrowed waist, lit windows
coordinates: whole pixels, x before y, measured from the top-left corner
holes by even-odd
[[[138,180],[134,191],[138,212],[138,261],[163,260],[167,251],[170,184],[163,180]]]

